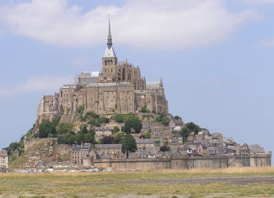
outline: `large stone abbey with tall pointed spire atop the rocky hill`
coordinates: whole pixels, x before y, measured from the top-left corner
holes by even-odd
[[[100,72],[82,72],[75,76],[75,83],[63,85],[59,93],[42,96],[38,107],[38,119],[50,119],[51,115],[64,115],[73,119],[80,105],[85,111],[95,113],[136,113],[142,107],[149,111],[169,113],[164,96],[162,78],[159,82],[147,83],[140,74],[139,66],[118,61],[112,47],[110,20],[108,42],[102,57]],[[69,120],[67,120],[69,122]]]

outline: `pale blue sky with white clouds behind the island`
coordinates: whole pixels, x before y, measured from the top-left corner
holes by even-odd
[[[274,151],[274,0],[1,0],[0,148],[36,121],[43,95],[119,61],[162,81],[169,113]],[[271,91],[272,90],[272,91]]]

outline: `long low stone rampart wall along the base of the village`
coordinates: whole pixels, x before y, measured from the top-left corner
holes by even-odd
[[[227,167],[271,166],[271,154],[264,156],[208,156],[188,157],[174,155],[171,158],[102,159],[84,158],[84,165],[112,169],[225,169]]]

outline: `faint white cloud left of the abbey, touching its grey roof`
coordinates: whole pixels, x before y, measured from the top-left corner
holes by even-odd
[[[53,91],[59,92],[66,83],[73,83],[73,76],[36,76],[23,83],[0,85],[0,98],[32,92],[53,94]]]

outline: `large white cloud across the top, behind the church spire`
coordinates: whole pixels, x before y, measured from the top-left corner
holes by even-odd
[[[256,10],[230,13],[222,1],[127,1],[121,8],[98,6],[84,14],[66,0],[32,0],[5,5],[0,19],[16,35],[59,46],[94,46],[106,42],[111,14],[114,44],[146,49],[190,48],[226,40]]]

